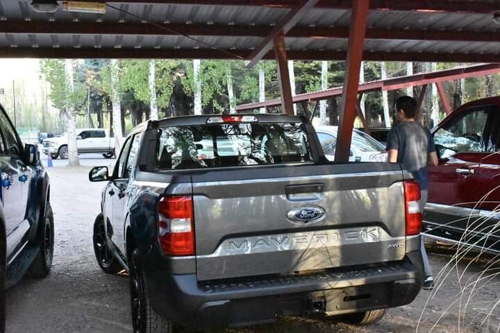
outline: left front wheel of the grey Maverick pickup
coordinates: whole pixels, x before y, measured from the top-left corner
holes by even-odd
[[[94,222],[94,253],[99,267],[108,274],[116,274],[122,271],[122,264],[118,262],[115,255],[111,253],[106,239],[106,229],[104,228],[103,215],[97,215]]]

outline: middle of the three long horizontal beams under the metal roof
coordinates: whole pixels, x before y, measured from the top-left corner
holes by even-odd
[[[165,28],[160,28],[164,26]],[[69,35],[193,35],[228,37],[265,37],[269,26],[241,26],[227,24],[142,24],[135,22],[35,22],[0,21],[2,33],[69,34]],[[286,37],[347,39],[349,27],[294,26]],[[368,40],[435,40],[455,42],[500,42],[498,31],[433,31],[416,29],[367,28]]]

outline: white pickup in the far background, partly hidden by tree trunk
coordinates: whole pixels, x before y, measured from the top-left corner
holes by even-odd
[[[115,139],[110,137],[107,130],[103,128],[79,128],[76,130],[76,145],[78,154],[102,153],[103,157],[115,156]],[[53,159],[60,157],[68,158],[67,133],[60,137],[45,139],[42,151],[45,155],[51,154]]]

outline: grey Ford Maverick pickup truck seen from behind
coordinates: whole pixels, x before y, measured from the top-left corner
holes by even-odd
[[[111,173],[90,171],[90,181],[107,183],[95,255],[106,273],[128,271],[134,332],[254,325],[276,314],[367,324],[414,300],[417,183],[397,164],[328,162],[302,121],[149,121],[128,135]],[[208,138],[210,153],[199,144]],[[219,155],[227,142],[238,148]]]

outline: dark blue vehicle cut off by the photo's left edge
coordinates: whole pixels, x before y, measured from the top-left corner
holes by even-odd
[[[53,214],[49,175],[40,164],[39,155],[37,145],[22,145],[0,105],[0,275],[6,274],[7,288],[26,273],[44,278],[51,269]]]

